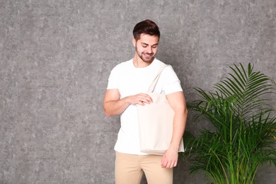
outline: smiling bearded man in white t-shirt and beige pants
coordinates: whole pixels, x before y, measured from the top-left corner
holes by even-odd
[[[121,120],[115,144],[115,181],[117,184],[140,183],[144,172],[149,184],[173,183],[173,167],[178,162],[178,148],[187,119],[185,97],[173,68],[163,69],[154,93],[166,94],[175,111],[171,144],[163,156],[139,151],[137,105],[152,103],[146,92],[164,63],[155,58],[160,38],[156,23],[150,20],[137,23],[133,35],[134,58],[111,71],[103,100],[105,115],[120,115]]]

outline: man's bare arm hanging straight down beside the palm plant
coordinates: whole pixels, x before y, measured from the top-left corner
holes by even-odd
[[[168,94],[166,98],[171,108],[173,108],[175,115],[173,118],[173,137],[168,150],[163,155],[161,166],[163,168],[173,168],[178,163],[178,148],[185,131],[188,110],[182,91]]]

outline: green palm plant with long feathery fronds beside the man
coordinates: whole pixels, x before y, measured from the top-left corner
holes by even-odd
[[[195,137],[185,132],[184,156],[190,171],[205,171],[212,183],[255,183],[260,164],[276,166],[276,116],[263,96],[274,93],[275,82],[248,64],[214,85],[214,92],[195,88],[199,100],[188,102],[195,120],[211,122],[214,129]]]

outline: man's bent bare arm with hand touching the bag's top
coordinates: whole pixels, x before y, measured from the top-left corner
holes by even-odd
[[[120,92],[117,89],[108,89],[105,92],[103,109],[105,110],[105,115],[111,117],[113,115],[120,115],[130,105],[144,105],[144,103],[151,102],[151,97],[144,93],[120,99]]]

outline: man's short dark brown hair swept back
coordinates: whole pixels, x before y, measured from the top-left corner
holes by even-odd
[[[139,22],[137,23],[137,25],[134,26],[133,36],[135,40],[139,40],[140,35],[142,34],[158,36],[158,38],[160,38],[159,27],[156,25],[156,23],[154,23],[154,21],[151,21],[149,19]]]

